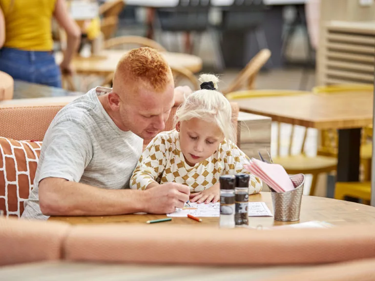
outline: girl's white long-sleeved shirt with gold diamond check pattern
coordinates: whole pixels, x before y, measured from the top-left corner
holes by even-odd
[[[180,150],[178,132],[162,132],[146,147],[131,179],[131,187],[145,189],[152,182],[177,182],[190,192],[203,191],[219,182],[221,175],[248,173],[243,164],[249,158],[231,142],[223,141],[208,159],[190,167]],[[262,182],[250,175],[250,194],[261,190]]]

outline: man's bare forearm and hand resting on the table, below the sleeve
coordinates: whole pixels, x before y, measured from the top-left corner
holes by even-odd
[[[176,183],[150,190],[108,190],[61,178],[39,184],[40,206],[47,216],[105,216],[137,212],[173,213],[189,198],[189,187]]]

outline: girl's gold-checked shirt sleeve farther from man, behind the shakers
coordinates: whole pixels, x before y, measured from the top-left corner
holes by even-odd
[[[225,174],[249,174],[249,194],[259,193],[263,187],[262,180],[256,177],[255,175],[251,174],[248,170],[244,168],[244,164],[250,162],[249,157],[241,149],[239,149],[235,143],[231,141],[228,142],[225,147],[227,149],[227,151],[224,151]]]

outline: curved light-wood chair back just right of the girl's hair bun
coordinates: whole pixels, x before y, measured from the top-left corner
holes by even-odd
[[[245,84],[246,89],[254,89],[255,78],[270,57],[271,51],[269,49],[260,50],[222,93],[227,95],[228,93],[240,90]]]

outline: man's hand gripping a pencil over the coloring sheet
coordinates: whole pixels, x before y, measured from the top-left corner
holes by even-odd
[[[151,214],[169,214],[176,208],[183,208],[189,200],[190,188],[187,185],[167,182],[144,191],[146,194],[146,212]]]

